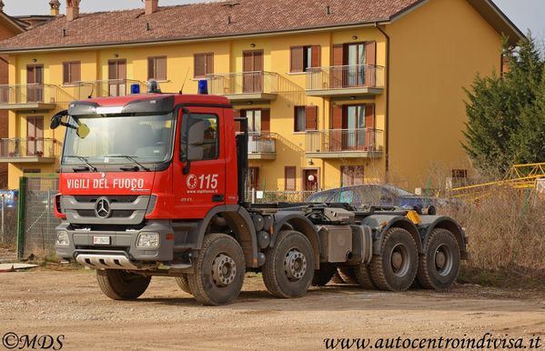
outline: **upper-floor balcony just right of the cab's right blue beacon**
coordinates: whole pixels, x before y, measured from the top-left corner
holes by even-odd
[[[270,101],[278,94],[278,74],[237,72],[207,75],[211,95],[224,95],[230,101]]]

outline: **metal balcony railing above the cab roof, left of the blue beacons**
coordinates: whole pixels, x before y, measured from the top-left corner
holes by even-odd
[[[133,79],[108,79],[76,82],[78,99],[91,97],[125,96],[131,94],[131,85],[140,85],[140,93],[146,93],[146,83]]]

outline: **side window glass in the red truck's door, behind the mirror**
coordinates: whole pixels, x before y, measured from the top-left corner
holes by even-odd
[[[219,157],[219,119],[217,115],[192,113],[205,121],[205,141],[203,144],[203,161],[215,160]],[[187,115],[182,116],[182,126],[180,128],[180,160],[186,160],[186,140],[187,140]]]

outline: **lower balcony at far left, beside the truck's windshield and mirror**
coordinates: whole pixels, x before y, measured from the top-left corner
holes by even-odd
[[[0,139],[0,162],[55,163],[62,145],[52,138]]]

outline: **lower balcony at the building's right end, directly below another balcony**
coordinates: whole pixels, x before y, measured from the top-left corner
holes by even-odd
[[[379,158],[382,131],[372,128],[308,131],[305,154],[316,158]]]

